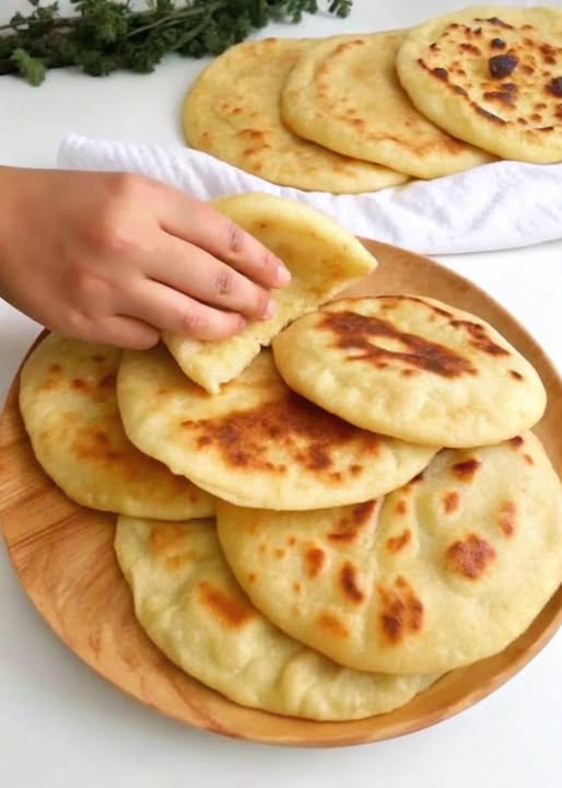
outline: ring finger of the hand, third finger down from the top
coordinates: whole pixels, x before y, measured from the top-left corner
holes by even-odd
[[[226,339],[245,325],[235,312],[207,306],[160,282],[144,279],[128,294],[127,312],[160,331],[194,339]]]

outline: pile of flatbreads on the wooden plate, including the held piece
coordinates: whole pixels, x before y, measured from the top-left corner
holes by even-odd
[[[276,317],[144,351],[50,334],[25,427],[72,500],[119,515],[137,618],[175,664],[271,712],[383,714],[504,649],[562,581],[546,392],[472,314],[333,300],[376,260],[331,219],[216,205],[290,268]]]

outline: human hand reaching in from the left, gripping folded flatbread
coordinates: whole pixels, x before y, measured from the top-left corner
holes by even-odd
[[[267,320],[281,260],[206,202],[122,173],[0,167],[0,296],[68,336],[148,348]]]

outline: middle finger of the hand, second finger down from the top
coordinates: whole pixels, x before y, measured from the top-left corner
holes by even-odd
[[[172,235],[164,236],[162,251],[151,256],[144,273],[196,301],[239,312],[250,320],[267,320],[276,311],[268,290],[208,252]]]

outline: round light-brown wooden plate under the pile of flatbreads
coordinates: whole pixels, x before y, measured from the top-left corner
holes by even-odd
[[[549,392],[536,431],[562,473],[562,382],[531,337],[477,287],[424,257],[365,242],[378,269],[353,294],[431,296],[494,325]],[[175,668],[137,624],[113,552],[115,518],[75,506],[37,465],[17,409],[17,380],[0,421],[0,517],[20,580],[39,613],[84,662],[120,690],[182,722],[241,739],[303,746],[380,741],[426,728],[489,695],[562,624],[562,587],[527,631],[495,657],[453,671],[403,708],[351,722],[314,722],[231,703]]]

